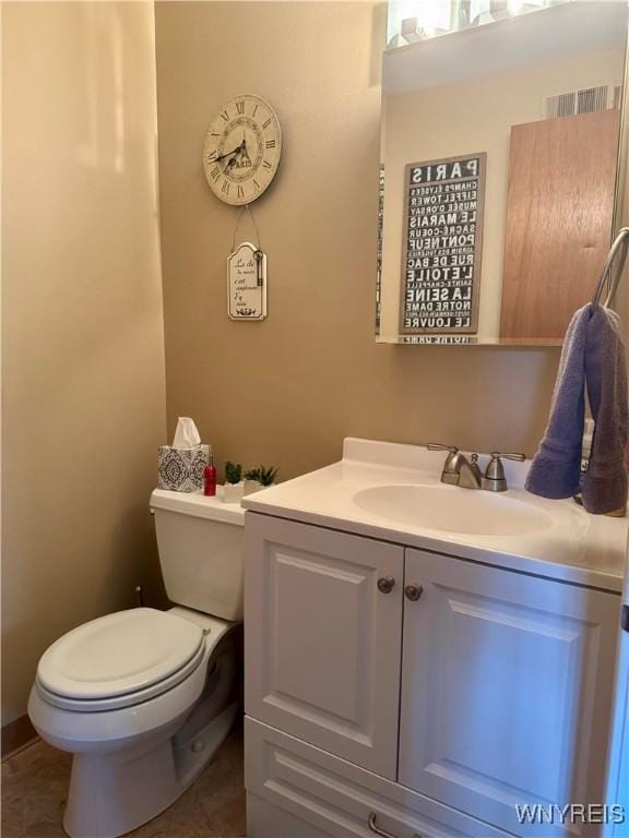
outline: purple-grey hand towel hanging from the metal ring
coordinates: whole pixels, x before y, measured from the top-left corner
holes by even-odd
[[[526,479],[533,494],[559,499],[580,491],[585,387],[595,430],[583,505],[615,512],[627,503],[625,347],[618,315],[591,303],[574,313],[566,333],[548,427]]]

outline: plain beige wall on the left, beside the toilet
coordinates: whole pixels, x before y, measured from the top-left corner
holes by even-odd
[[[158,578],[151,3],[4,3],[2,721],[62,632]]]

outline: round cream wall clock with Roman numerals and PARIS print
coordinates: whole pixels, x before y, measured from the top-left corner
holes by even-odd
[[[203,168],[210,189],[226,204],[250,204],[273,180],[282,132],[273,108],[246,94],[228,101],[210,123]]]

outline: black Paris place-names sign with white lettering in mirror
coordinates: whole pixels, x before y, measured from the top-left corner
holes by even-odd
[[[477,332],[486,160],[483,152],[405,167],[402,333]]]

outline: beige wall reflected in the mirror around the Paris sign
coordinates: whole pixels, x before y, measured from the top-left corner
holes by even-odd
[[[544,119],[548,96],[620,84],[624,63],[621,50],[593,51],[384,98],[383,336],[399,333],[405,165],[487,153],[478,337],[498,338],[511,127]]]

